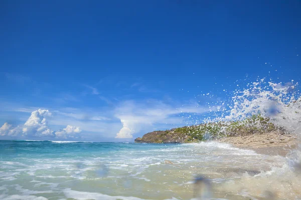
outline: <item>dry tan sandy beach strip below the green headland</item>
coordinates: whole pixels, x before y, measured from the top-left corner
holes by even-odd
[[[217,141],[229,143],[238,148],[251,149],[260,154],[281,156],[285,156],[297,144],[295,135],[278,132],[231,136],[217,139]]]

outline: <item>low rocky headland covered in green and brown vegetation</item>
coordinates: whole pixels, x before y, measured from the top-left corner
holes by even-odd
[[[269,120],[268,117],[258,114],[242,121],[220,121],[178,127],[165,131],[159,130],[146,133],[142,138],[136,138],[135,142],[187,143],[271,131],[287,133],[284,128],[275,126]]]

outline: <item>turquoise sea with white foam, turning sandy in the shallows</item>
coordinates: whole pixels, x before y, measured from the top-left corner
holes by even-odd
[[[282,156],[219,142],[0,140],[0,199],[301,199]],[[194,184],[202,175],[208,188]],[[204,192],[203,192],[204,193]],[[203,199],[203,198],[200,198]]]

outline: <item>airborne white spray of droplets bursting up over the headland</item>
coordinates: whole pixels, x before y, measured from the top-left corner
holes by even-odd
[[[268,117],[275,126],[283,127],[288,132],[299,134],[301,131],[301,95],[298,82],[288,83],[257,79],[247,83],[243,90],[235,89],[227,102],[217,106],[213,117],[205,122],[242,121],[253,115]],[[214,106],[213,106],[214,107]]]

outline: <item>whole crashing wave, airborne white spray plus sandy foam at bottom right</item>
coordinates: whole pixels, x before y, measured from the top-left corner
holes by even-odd
[[[301,198],[301,95],[298,86],[294,80],[275,83],[271,79],[257,79],[242,90],[235,89],[229,102],[222,103],[213,112],[215,117],[204,120],[205,123],[222,124],[221,131],[227,135],[227,128],[233,121],[246,125],[247,120],[251,122],[248,125],[259,127],[261,118],[267,124],[272,123],[277,130],[297,137],[296,148],[286,154],[283,165],[273,166],[271,170],[256,175],[246,172],[239,181],[229,181],[223,185],[223,189],[241,191],[241,195],[250,199],[258,199],[258,194],[260,199]],[[258,115],[260,117],[255,117],[258,120],[248,120]],[[252,197],[253,194],[257,198]]]

